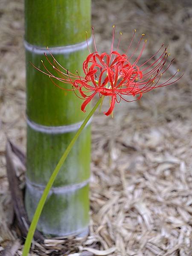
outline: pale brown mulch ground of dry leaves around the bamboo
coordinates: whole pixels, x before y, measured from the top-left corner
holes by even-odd
[[[111,47],[113,24],[123,32],[122,50],[134,28],[146,34],[144,58],[169,43],[177,59],[169,75],[177,68],[185,74],[140,102],[121,102],[113,119],[95,115],[90,234],[85,241],[34,243],[31,255],[192,255],[192,3],[93,0],[101,51]],[[23,27],[23,1],[1,0],[0,251],[6,255],[21,255],[23,247],[12,227],[5,160],[6,137],[23,149],[26,143]]]

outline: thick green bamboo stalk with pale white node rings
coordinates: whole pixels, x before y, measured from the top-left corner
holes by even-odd
[[[85,31],[89,38],[90,0],[25,0],[28,117],[25,206],[29,220],[33,218],[52,170],[76,134],[75,130],[55,132],[53,129],[54,132],[50,132],[49,127],[74,125],[86,117],[80,110],[82,102],[73,91],[55,87],[49,77],[35,70],[29,61],[42,68],[44,54],[38,47],[45,50],[47,46],[50,49],[54,47],[54,51],[57,47],[68,46],[65,48],[67,51],[53,54],[62,66],[73,73],[78,70],[81,75],[82,62],[88,50],[87,47],[78,49],[76,46],[85,41]],[[57,84],[63,86],[59,82]],[[41,232],[52,236],[86,232],[89,176],[90,125],[84,128],[53,183],[54,189],[49,193],[38,222]]]

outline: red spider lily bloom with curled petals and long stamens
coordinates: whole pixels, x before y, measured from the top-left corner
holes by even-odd
[[[84,112],[87,104],[97,93],[100,97],[109,96],[111,99],[111,104],[108,111],[105,112],[105,115],[109,116],[113,112],[115,103],[119,103],[121,99],[125,100],[126,102],[136,101],[142,97],[143,93],[146,93],[154,88],[173,84],[175,81],[181,78],[180,77],[173,81],[173,77],[175,77],[179,71],[177,70],[177,72],[167,81],[161,82],[162,75],[169,69],[174,60],[172,59],[172,61],[166,65],[169,54],[167,53],[166,48],[161,52],[164,44],[161,45],[161,47],[157,50],[157,52],[154,53],[154,55],[151,56],[151,58],[149,58],[143,64],[138,64],[143,50],[145,49],[145,40],[140,49],[140,53],[138,54],[137,58],[133,60],[133,56],[139,49],[140,44],[143,41],[143,36],[145,35],[142,34],[136,48],[132,54],[129,54],[130,47],[135,37],[135,32],[136,30],[134,29],[134,35],[131,39],[131,43],[124,54],[120,54],[118,52],[122,33],[120,33],[116,50],[113,50],[115,26],[113,26],[113,39],[110,54],[107,54],[106,52],[103,52],[102,54],[98,53],[93,35],[95,51],[91,53],[87,44],[90,54],[83,63],[84,76],[79,76],[78,71],[76,71],[77,74],[68,72],[67,69],[62,67],[55,60],[51,52],[50,55],[52,56],[52,62],[49,60],[46,54],[45,56],[58,76],[53,75],[44,65],[43,61],[42,63],[47,73],[42,70],[40,71],[47,74],[51,79],[54,78],[66,84],[72,84],[73,90],[78,90],[81,97],[78,96],[77,93],[76,95],[79,98],[84,99],[84,102],[81,105],[81,110]],[[159,54],[159,52],[161,53]],[[156,57],[157,55],[159,56]],[[154,61],[155,57],[156,60]],[[52,82],[58,86],[53,79]],[[62,87],[60,88],[64,89]],[[134,96],[135,99],[128,101],[125,99],[126,95]]]

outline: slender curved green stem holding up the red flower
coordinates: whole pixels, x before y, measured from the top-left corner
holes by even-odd
[[[47,186],[44,189],[43,195],[41,196],[41,199],[38,203],[37,209],[35,210],[35,214],[33,216],[31,225],[29,227],[29,231],[27,233],[27,237],[26,237],[26,241],[24,244],[24,248],[23,248],[23,254],[22,256],[27,256],[31,247],[31,243],[32,243],[32,239],[33,239],[33,235],[35,233],[35,229],[36,226],[38,224],[38,220],[40,218],[41,212],[43,210],[45,201],[47,199],[47,196],[49,194],[49,190],[52,187],[52,184],[56,178],[56,176],[58,175],[58,172],[62,166],[62,164],[64,163],[65,159],[67,158],[70,150],[73,148],[74,143],[76,142],[76,140],[78,139],[79,135],[81,134],[81,131],[83,130],[83,128],[85,127],[85,125],[87,124],[87,122],[89,121],[89,119],[91,118],[91,116],[93,116],[93,113],[96,111],[96,109],[98,108],[99,104],[101,103],[102,98],[99,99],[99,101],[96,103],[96,105],[93,107],[93,109],[90,111],[90,113],[88,114],[88,116],[85,118],[84,122],[82,123],[81,127],[79,128],[79,130],[77,131],[76,135],[73,137],[73,140],[70,142],[70,144],[68,145],[67,149],[64,151],[64,154],[62,155],[61,159],[59,160],[57,166],[55,167],[55,170],[53,171]]]

